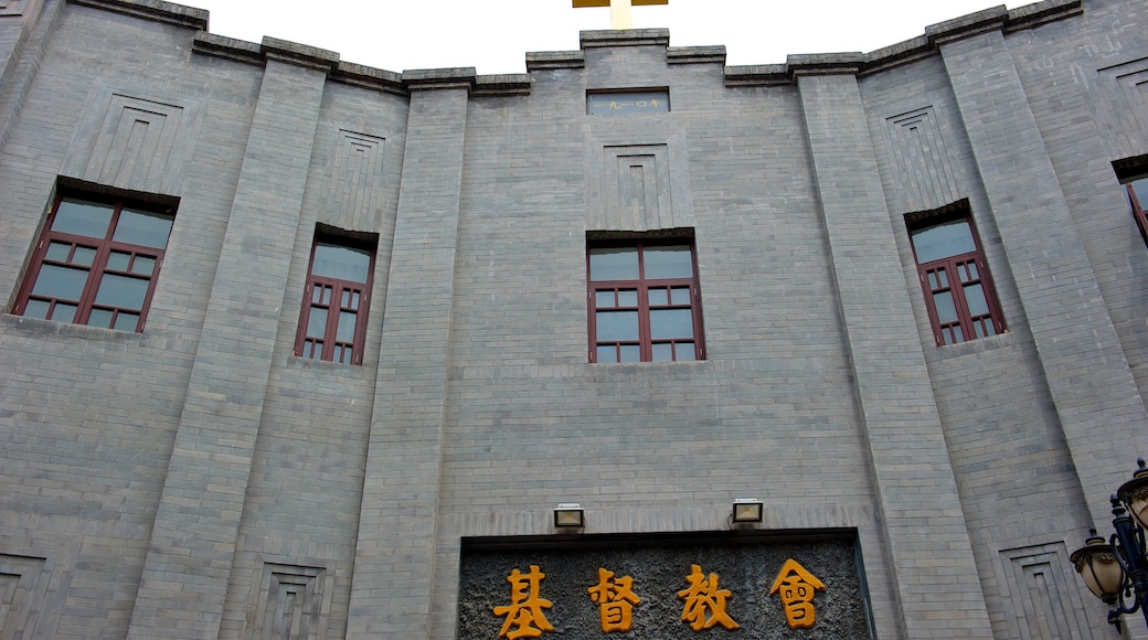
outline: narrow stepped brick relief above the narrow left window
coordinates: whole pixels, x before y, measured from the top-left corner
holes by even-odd
[[[375,229],[386,204],[386,140],[339,132],[319,221],[344,229]]]

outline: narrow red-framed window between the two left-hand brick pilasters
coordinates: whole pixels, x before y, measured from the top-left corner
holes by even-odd
[[[316,234],[295,354],[363,364],[375,243]]]

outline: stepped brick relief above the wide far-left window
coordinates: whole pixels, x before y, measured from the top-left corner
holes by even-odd
[[[179,104],[104,92],[95,97],[64,174],[125,189],[172,194],[189,158],[191,117]],[[102,108],[101,108],[102,104]]]

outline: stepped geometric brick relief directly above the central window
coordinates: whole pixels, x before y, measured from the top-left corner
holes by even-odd
[[[666,145],[605,147],[605,206],[589,212],[588,228],[644,232],[692,226],[674,216]]]

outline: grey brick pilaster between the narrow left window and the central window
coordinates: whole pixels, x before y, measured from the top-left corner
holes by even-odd
[[[403,76],[412,88],[410,119],[348,638],[426,638],[429,626],[473,73],[468,70],[470,80],[467,70]]]

